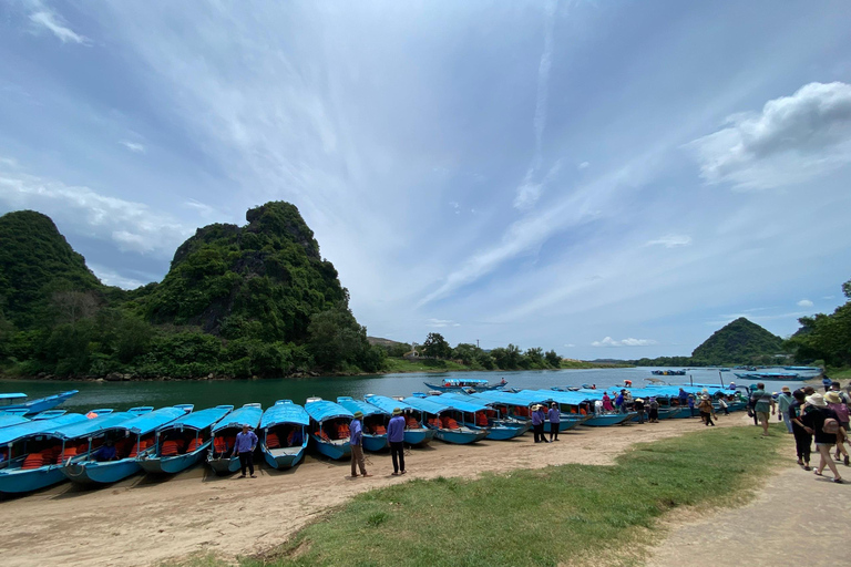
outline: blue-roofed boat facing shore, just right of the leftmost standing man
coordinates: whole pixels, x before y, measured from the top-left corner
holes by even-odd
[[[305,457],[310,416],[293,400],[278,400],[263,413],[260,451],[273,468],[290,468]]]

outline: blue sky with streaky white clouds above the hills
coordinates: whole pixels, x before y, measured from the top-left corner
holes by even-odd
[[[851,279],[847,1],[0,3],[0,214],[107,285],[295,204],[368,333],[689,354]]]

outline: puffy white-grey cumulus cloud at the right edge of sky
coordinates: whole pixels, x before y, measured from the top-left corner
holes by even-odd
[[[851,85],[809,83],[689,146],[710,184],[766,189],[801,183],[851,162]]]

